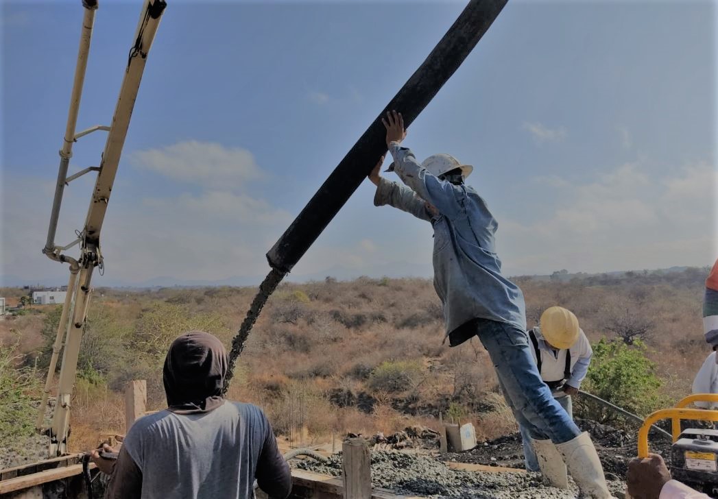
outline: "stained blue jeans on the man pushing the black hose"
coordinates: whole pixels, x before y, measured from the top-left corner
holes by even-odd
[[[532,439],[562,444],[581,434],[538,375],[526,331],[505,322],[479,319],[477,336],[488,350],[516,421]]]

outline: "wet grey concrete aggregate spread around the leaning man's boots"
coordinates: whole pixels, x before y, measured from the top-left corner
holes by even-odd
[[[340,476],[342,457],[335,454],[328,464],[314,460],[294,460],[292,467],[324,475]],[[546,487],[538,473],[488,473],[452,470],[443,462],[421,454],[398,451],[372,452],[371,476],[374,487],[398,494],[432,498],[466,499],[574,499],[577,488],[570,490]],[[612,484],[617,497],[623,497],[625,485]]]

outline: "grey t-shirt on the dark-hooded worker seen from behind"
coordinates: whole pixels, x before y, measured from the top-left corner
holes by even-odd
[[[267,445],[276,452],[261,409],[230,401],[206,413],[149,414],[123,442],[141,472],[141,498],[167,499],[251,498]]]

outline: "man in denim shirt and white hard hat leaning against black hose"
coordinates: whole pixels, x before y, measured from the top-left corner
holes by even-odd
[[[584,496],[610,498],[601,462],[589,434],[582,433],[541,380],[526,334],[523,294],[501,274],[494,234],[498,228],[486,202],[464,179],[472,167],[449,154],[416,161],[400,143],[406,137],[401,113],[382,118],[390,170],[401,182],[379,174],[374,205],[391,205],[432,223],[434,289],[442,301],[449,345],[479,337],[496,368],[507,403],[526,426],[546,480],[567,486],[566,468]],[[563,477],[563,478],[562,478]]]

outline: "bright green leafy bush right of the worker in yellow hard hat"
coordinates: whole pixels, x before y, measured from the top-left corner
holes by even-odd
[[[626,345],[605,338],[593,346],[593,358],[582,389],[626,411],[646,416],[663,405],[656,364],[645,356],[643,342]],[[621,421],[616,411],[595,401],[578,397],[577,413],[601,423]]]

